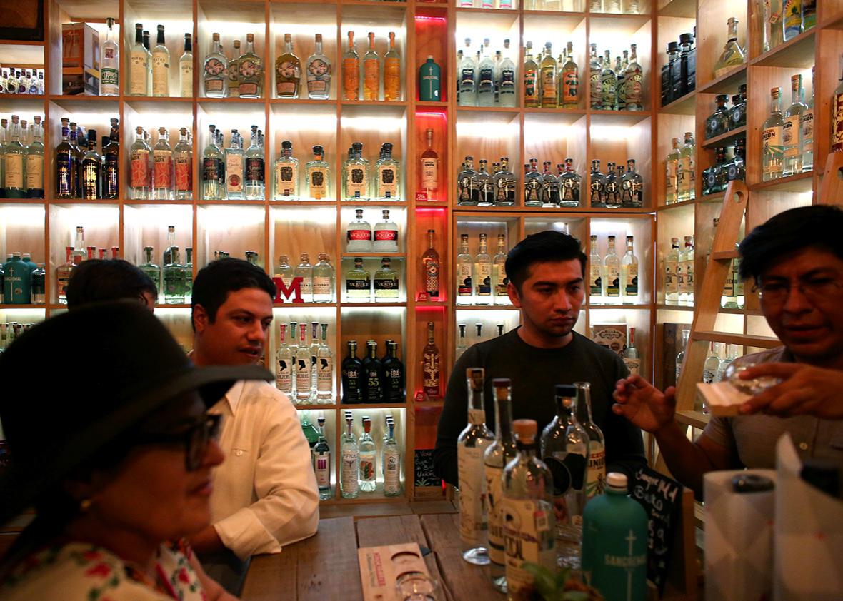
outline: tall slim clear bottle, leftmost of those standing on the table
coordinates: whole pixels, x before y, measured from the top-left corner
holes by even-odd
[[[494,442],[494,436],[486,428],[486,409],[483,404],[484,370],[472,367],[465,370],[466,387],[469,391],[468,425],[457,439],[457,465],[459,471],[459,538],[462,541],[462,556],[475,566],[489,563],[486,549],[488,523],[484,497],[486,495],[485,475],[482,469],[483,455]]]

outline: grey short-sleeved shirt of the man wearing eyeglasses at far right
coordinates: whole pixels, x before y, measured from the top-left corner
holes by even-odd
[[[771,348],[734,360],[734,364],[793,363],[785,347]],[[730,449],[738,460],[735,468],[776,469],[776,441],[790,433],[802,460],[820,458],[843,465],[843,420],[808,415],[778,418],[761,413],[734,418],[712,417],[703,431],[709,439]]]

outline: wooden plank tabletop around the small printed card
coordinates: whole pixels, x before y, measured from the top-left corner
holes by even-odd
[[[319,520],[313,537],[277,555],[255,556],[246,577],[244,601],[362,601],[357,547],[416,542],[431,550],[425,561],[442,583],[448,601],[504,596],[491,586],[487,569],[463,561],[459,515],[440,513]]]

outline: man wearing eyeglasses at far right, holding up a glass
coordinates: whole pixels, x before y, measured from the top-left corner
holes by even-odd
[[[740,276],[754,279],[760,308],[783,346],[750,354],[740,377],[781,383],[752,397],[735,418],[712,417],[690,442],[674,422],[675,389],[633,375],[615,386],[612,410],[655,434],[671,473],[702,493],[706,471],[775,468],[776,440],[790,433],[803,459],[843,465],[843,210],[787,210],[740,244]]]

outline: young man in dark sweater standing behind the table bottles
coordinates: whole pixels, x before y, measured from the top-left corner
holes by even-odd
[[[584,298],[586,256],[577,238],[541,231],[524,238],[507,255],[507,292],[521,310],[523,326],[478,343],[459,358],[445,392],[433,454],[437,475],[459,482],[457,438],[468,423],[465,370],[486,370],[486,424],[495,425],[493,378],[513,384],[513,419],[529,418],[539,432],[556,415],[554,386],[591,383],[593,423],[603,431],[606,471],[631,476],[646,465],[641,430],[611,411],[615,382],[628,374],[620,357],[573,331]]]

